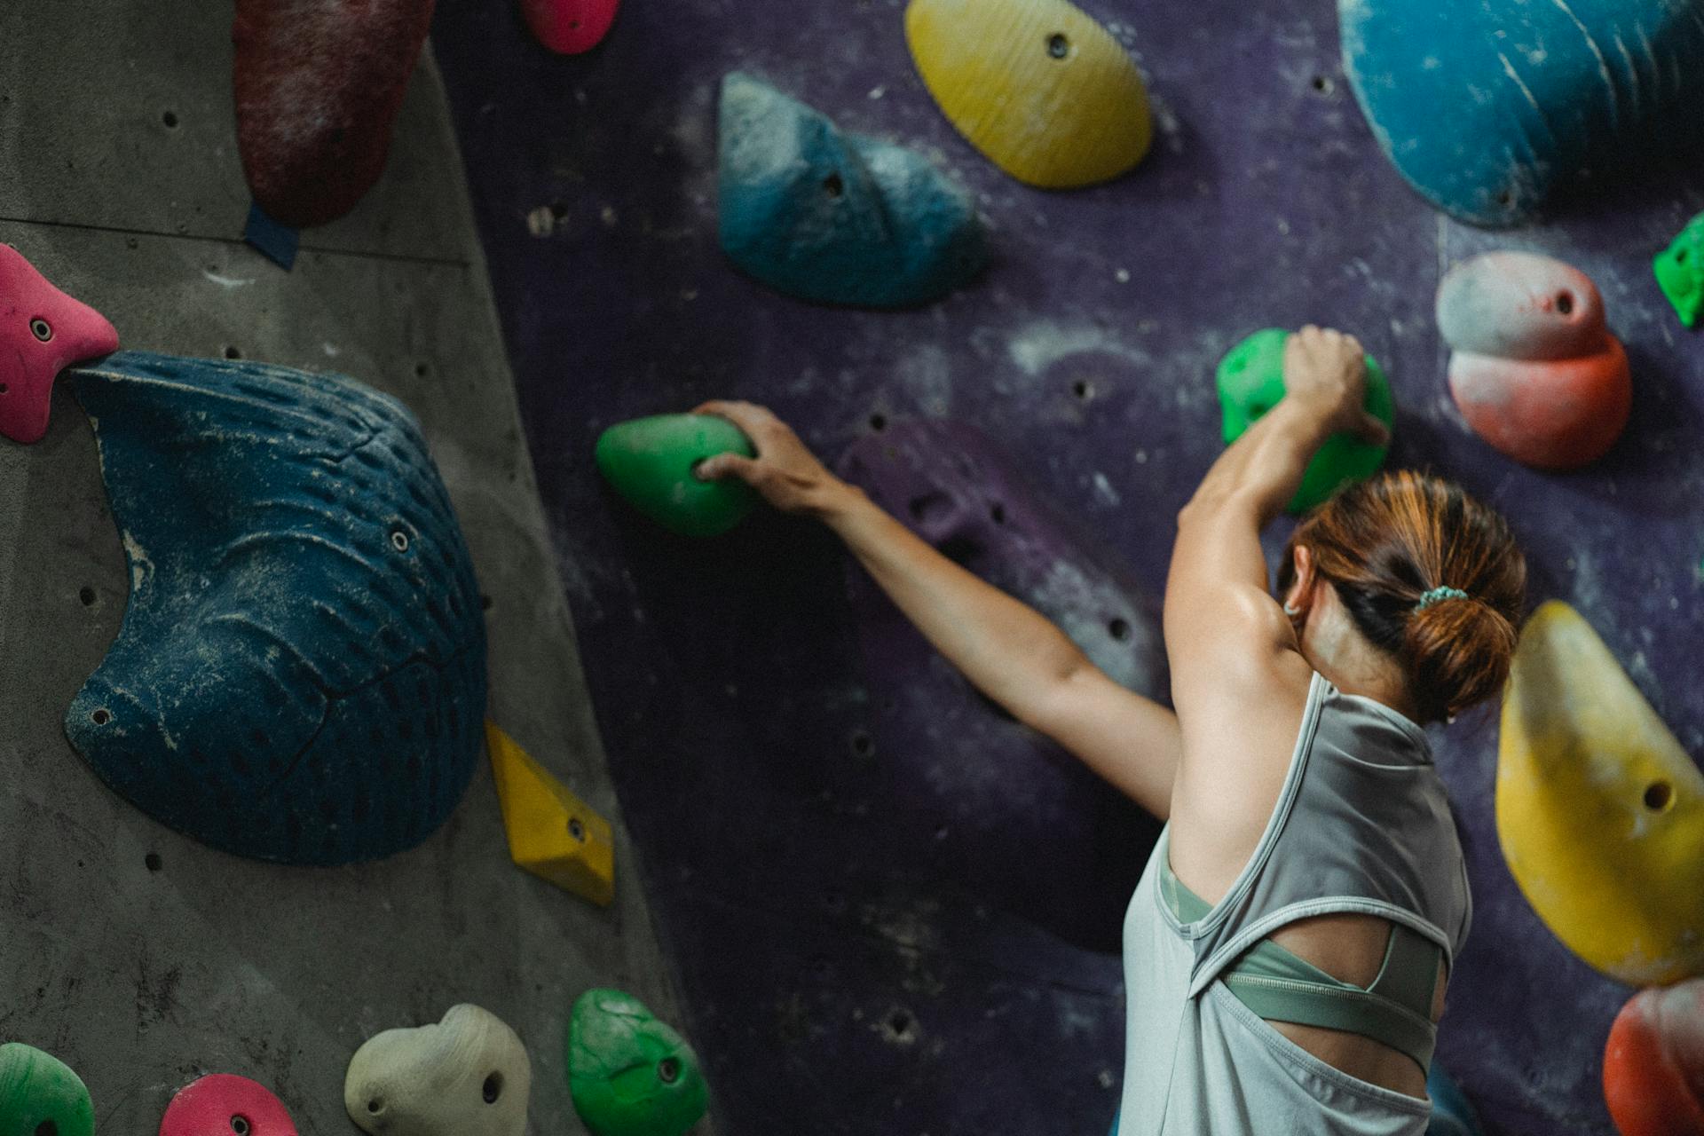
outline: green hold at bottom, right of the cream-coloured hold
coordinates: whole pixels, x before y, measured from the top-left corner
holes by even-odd
[[[593,1136],[680,1136],[709,1099],[692,1046],[619,990],[588,990],[574,1003],[567,1088]]]

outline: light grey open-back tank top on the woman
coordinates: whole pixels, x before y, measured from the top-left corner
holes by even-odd
[[[1454,969],[1467,865],[1426,734],[1314,674],[1290,772],[1230,892],[1179,923],[1159,891],[1171,828],[1125,915],[1120,1136],[1419,1136],[1430,1105],[1321,1061],[1237,1001],[1222,972],[1275,930],[1355,911],[1414,928]]]

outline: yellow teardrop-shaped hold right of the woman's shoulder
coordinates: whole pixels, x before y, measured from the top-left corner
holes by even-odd
[[[1534,911],[1593,967],[1636,986],[1704,972],[1704,775],[1566,603],[1515,652],[1496,831]]]

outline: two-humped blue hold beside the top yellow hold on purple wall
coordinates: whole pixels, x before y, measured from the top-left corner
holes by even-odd
[[[719,145],[722,249],[777,291],[905,308],[988,259],[976,203],[929,158],[842,135],[750,75],[722,78]]]

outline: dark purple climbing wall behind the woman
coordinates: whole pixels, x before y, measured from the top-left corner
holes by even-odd
[[[1684,153],[1638,177],[1600,170],[1546,225],[1482,233],[1426,208],[1379,155],[1329,0],[1084,7],[1135,51],[1159,136],[1131,177],[1046,194],[941,118],[900,0],[634,2],[602,48],[569,60],[538,48],[513,5],[438,5],[579,647],[729,1131],[1104,1131],[1123,1051],[1116,909],[1084,928],[1060,908],[1102,911],[1152,829],[1062,780],[1063,758],[992,707],[975,729],[946,727],[971,695],[849,591],[837,547],[809,525],[762,514],[694,543],[627,513],[591,463],[615,421],[745,397],[830,460],[855,441],[898,451],[905,419],[973,426],[1028,482],[1026,501],[1094,535],[1094,552],[1060,535],[1062,564],[1094,557],[1077,565],[1087,577],[1130,581],[1048,594],[1116,608],[1143,601],[1131,589],[1157,596],[1172,516],[1218,453],[1220,354],[1258,327],[1348,327],[1392,376],[1392,462],[1503,508],[1534,598],[1580,606],[1682,743],[1704,749],[1690,681],[1704,644],[1704,337],[1680,329],[1649,274],[1704,208],[1704,143],[1672,138]],[[987,276],[937,307],[867,313],[733,273],[716,244],[714,135],[731,68],[842,126],[934,150],[982,201]],[[1585,269],[1627,344],[1632,424],[1593,470],[1515,467],[1448,399],[1433,290],[1443,267],[1496,247]],[[958,484],[947,453],[937,460]],[[988,571],[1024,547],[978,531],[970,552]],[[1009,567],[1034,577],[1028,560]],[[1113,610],[1055,613],[1075,617],[1085,645],[1118,640],[1097,645],[1109,657],[1145,634],[1114,627]],[[1477,903],[1443,1061],[1494,1131],[1609,1133],[1598,1061],[1627,990],[1573,959],[1503,867],[1494,717],[1435,741]],[[954,785],[1000,800],[1002,826],[953,809]],[[1055,823],[1060,794],[1097,819]],[[1099,841],[1089,879],[1063,867],[1084,862],[1082,841]],[[1014,887],[971,870],[983,850],[1014,865]],[[1055,863],[1053,903],[1017,901]]]

